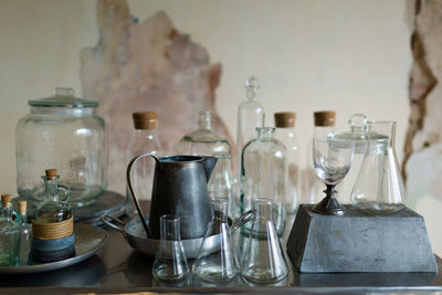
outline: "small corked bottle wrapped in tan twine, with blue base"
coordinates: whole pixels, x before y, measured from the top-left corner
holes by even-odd
[[[32,256],[42,262],[63,260],[75,252],[74,217],[67,204],[71,191],[59,185],[56,169],[46,169],[42,178],[45,197],[32,221]]]

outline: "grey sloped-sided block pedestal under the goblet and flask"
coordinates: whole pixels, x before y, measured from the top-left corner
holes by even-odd
[[[414,211],[369,215],[345,206],[343,217],[301,204],[287,253],[301,273],[436,272],[424,220]]]

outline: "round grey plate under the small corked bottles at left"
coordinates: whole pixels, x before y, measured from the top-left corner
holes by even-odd
[[[0,273],[8,274],[29,274],[41,273],[80,263],[95,254],[107,241],[107,232],[90,224],[75,223],[75,255],[55,262],[34,263],[32,265],[0,266]]]

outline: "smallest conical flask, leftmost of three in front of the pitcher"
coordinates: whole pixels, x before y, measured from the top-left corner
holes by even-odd
[[[180,218],[162,215],[160,228],[160,243],[152,266],[154,277],[165,282],[187,280],[189,266],[180,238]]]

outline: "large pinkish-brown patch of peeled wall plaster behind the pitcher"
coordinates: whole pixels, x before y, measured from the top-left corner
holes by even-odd
[[[86,98],[99,102],[108,131],[109,189],[124,191],[133,112],[156,110],[167,155],[197,128],[198,112],[209,109],[213,128],[228,134],[214,109],[221,65],[173,28],[165,12],[137,23],[126,1],[97,2],[99,41],[82,51],[81,80]]]

